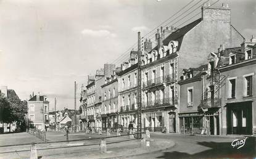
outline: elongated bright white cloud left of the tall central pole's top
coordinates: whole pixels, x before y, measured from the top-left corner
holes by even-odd
[[[87,36],[94,36],[94,37],[116,37],[117,35],[115,33],[111,33],[109,30],[89,30],[85,29],[81,31],[83,35]]]

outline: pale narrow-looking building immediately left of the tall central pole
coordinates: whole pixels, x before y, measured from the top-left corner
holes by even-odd
[[[138,51],[130,52],[130,59],[121,65],[118,75],[118,112],[119,124],[128,128],[130,121],[138,123]]]

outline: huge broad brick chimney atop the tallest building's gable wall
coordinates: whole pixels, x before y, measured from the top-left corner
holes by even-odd
[[[231,9],[228,4],[222,7],[210,7],[210,4],[202,6],[202,20],[207,22],[231,23]]]

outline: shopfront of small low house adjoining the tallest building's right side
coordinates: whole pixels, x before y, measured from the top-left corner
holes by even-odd
[[[204,128],[204,118],[199,113],[180,113],[180,133],[181,134],[200,134]]]

